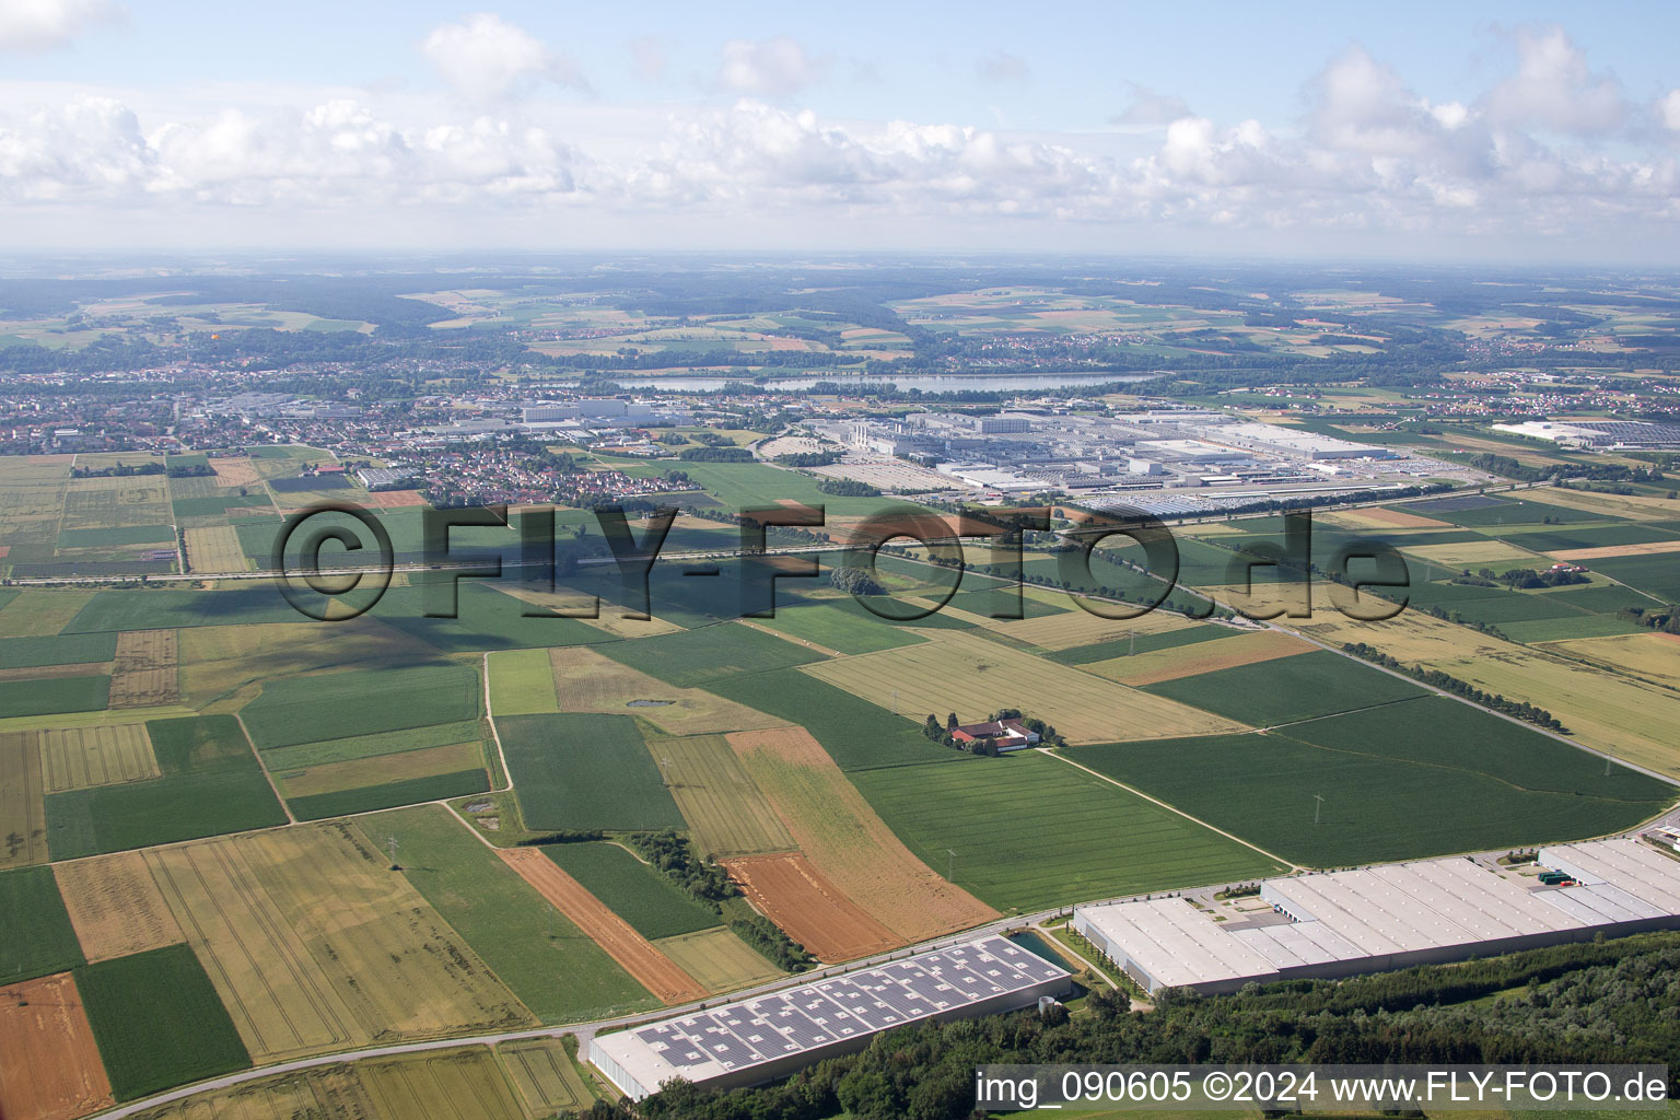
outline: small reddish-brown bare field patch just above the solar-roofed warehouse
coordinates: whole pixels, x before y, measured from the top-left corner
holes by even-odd
[[[852,960],[899,945],[801,855],[722,860],[729,877],[764,915],[823,962]]]

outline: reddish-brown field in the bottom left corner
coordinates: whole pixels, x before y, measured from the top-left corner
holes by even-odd
[[[74,1120],[111,1103],[71,974],[0,989],[0,1117]]]

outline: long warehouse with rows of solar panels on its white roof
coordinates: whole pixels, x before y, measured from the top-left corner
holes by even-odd
[[[959,1019],[1063,996],[1072,974],[1006,937],[922,952],[756,999],[590,1039],[590,1063],[642,1100],[672,1078],[759,1085],[847,1055],[895,1026]]]

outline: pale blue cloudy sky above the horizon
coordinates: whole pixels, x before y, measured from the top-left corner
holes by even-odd
[[[0,243],[1675,260],[1680,7],[1183,7],[0,0]]]

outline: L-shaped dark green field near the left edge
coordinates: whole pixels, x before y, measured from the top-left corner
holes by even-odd
[[[148,720],[163,777],[47,794],[54,860],[128,851],[286,823],[232,715]]]

